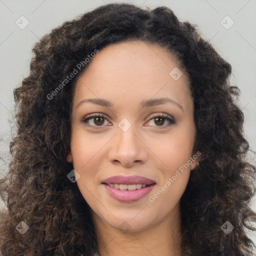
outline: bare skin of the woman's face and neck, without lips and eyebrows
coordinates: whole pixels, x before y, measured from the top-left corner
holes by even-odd
[[[95,253],[180,256],[179,202],[198,159],[179,171],[171,185],[166,182],[195,154],[193,100],[185,72],[174,80],[169,72],[179,67],[175,58],[141,41],[111,44],[90,61],[73,96],[67,161],[79,173],[77,186],[91,207]],[[161,97],[172,102],[140,106],[141,100]],[[103,98],[112,106],[81,102],[88,98]],[[92,113],[104,117],[82,121]],[[131,125],[126,131],[118,126],[123,118]],[[113,175],[140,175],[155,185],[139,200],[122,202],[102,184]],[[159,189],[164,191],[154,196]]]

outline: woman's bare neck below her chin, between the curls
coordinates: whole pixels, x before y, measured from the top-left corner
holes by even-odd
[[[99,256],[181,256],[178,212],[140,231],[122,231],[93,215]]]

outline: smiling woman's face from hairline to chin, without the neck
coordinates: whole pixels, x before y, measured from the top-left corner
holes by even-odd
[[[67,161],[94,220],[143,230],[177,218],[197,164],[186,75],[141,41],[111,44],[90,61],[73,96]]]

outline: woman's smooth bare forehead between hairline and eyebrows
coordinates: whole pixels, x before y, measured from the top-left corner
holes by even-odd
[[[182,101],[190,95],[184,70],[175,57],[159,45],[142,41],[111,44],[90,61],[77,80],[75,101],[100,97],[114,98],[115,101],[121,98],[123,103],[135,103],[144,98],[166,95]],[[173,79],[172,70],[176,69],[182,75]]]

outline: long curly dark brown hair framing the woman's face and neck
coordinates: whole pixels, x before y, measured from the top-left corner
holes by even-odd
[[[0,252],[17,255],[94,255],[97,240],[89,205],[67,173],[70,110],[77,77],[49,93],[94,49],[141,40],[169,50],[190,80],[200,164],[181,197],[182,255],[252,255],[246,230],[255,230],[249,206],[256,167],[243,135],[244,116],[235,102],[231,66],[196,26],[160,6],[127,3],[97,7],[52,29],[35,43],[30,73],[14,89],[16,133],[11,161],[0,180],[6,209],[0,215]],[[88,65],[82,67],[85,70]],[[50,94],[53,95],[53,94]],[[22,235],[16,226],[29,229]],[[228,235],[221,225],[234,226]]]

